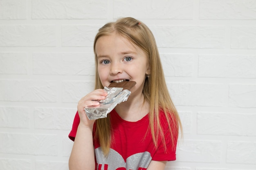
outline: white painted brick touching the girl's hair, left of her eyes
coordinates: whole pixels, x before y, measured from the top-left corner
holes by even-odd
[[[94,75],[94,54],[33,53],[33,74]]]

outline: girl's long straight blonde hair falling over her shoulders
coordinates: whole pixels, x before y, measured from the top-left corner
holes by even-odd
[[[112,33],[116,33],[128,39],[132,44],[141,48],[148,56],[150,76],[145,80],[142,93],[145,100],[147,100],[150,104],[149,129],[152,133],[153,142],[155,146],[157,146],[157,139],[159,137],[164,139],[164,132],[160,124],[159,115],[159,112],[162,110],[168,122],[168,128],[171,133],[171,142],[173,147],[175,147],[175,141],[177,141],[177,135],[179,133],[179,126],[181,132],[182,126],[177,110],[173,105],[171,97],[168,93],[155,38],[153,33],[144,23],[134,18],[126,17],[120,18],[116,22],[105,24],[99,29],[99,32],[94,39],[96,66],[95,89],[103,88],[98,73],[95,45],[99,37],[110,35]],[[111,144],[111,125],[109,116],[108,118],[96,120],[95,137],[99,139],[104,155],[108,155]]]

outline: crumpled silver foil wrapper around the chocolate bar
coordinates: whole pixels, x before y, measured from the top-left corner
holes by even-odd
[[[98,106],[85,107],[85,113],[89,120],[97,120],[99,118],[106,118],[108,113],[112,111],[116,105],[124,102],[130,96],[130,91],[122,87],[104,87],[108,96],[104,100],[100,100]]]

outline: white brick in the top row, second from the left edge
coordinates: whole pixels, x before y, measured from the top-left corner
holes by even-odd
[[[32,0],[33,19],[106,19],[107,1]]]

